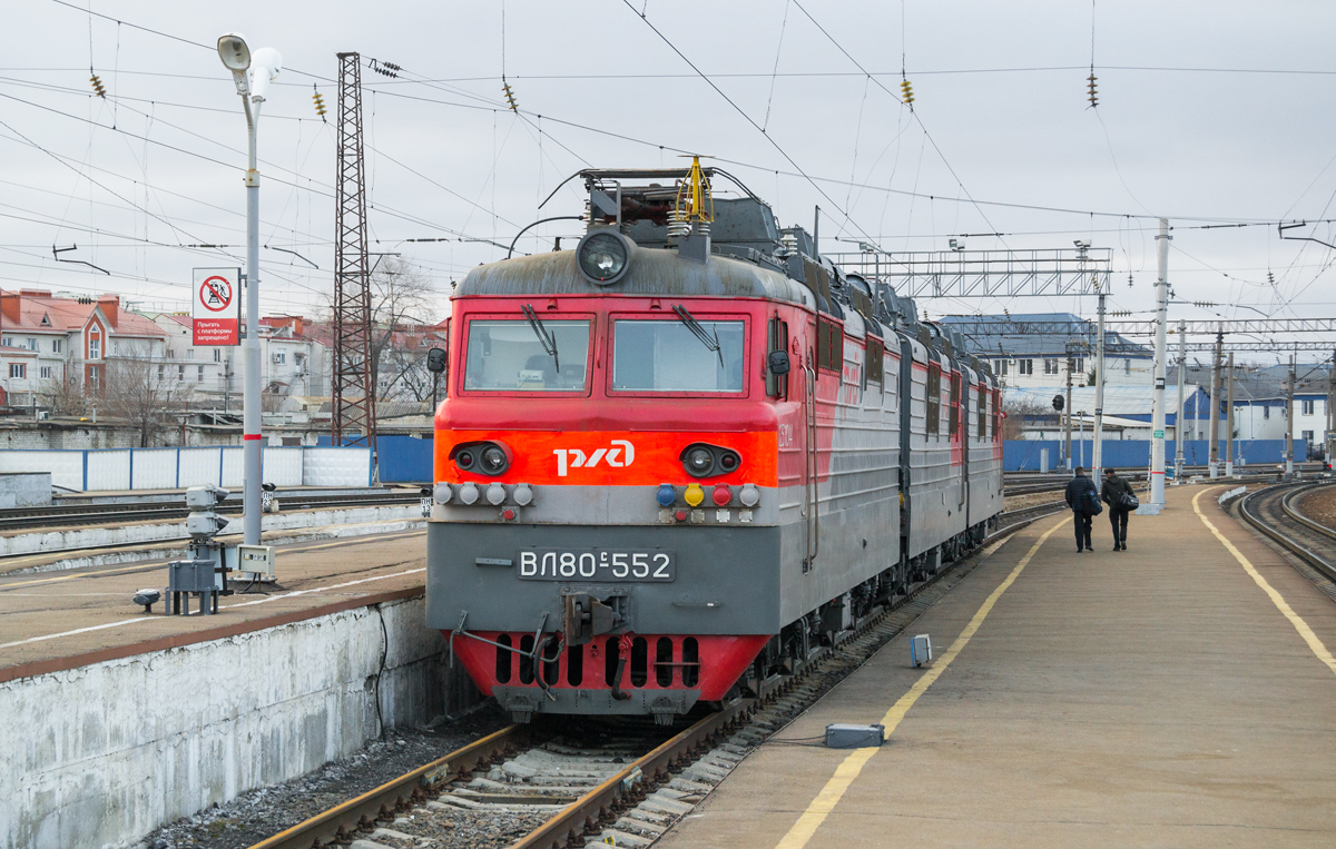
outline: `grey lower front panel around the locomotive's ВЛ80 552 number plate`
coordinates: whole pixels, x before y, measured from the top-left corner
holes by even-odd
[[[585,526],[429,522],[426,622],[453,630],[534,631],[562,627],[564,594],[624,595],[629,630],[640,634],[776,634],[779,527]],[[671,582],[522,579],[518,551],[671,550]]]

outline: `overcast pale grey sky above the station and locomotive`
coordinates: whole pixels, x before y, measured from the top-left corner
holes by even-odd
[[[1166,215],[1177,295],[1221,304],[1176,304],[1172,318],[1336,315],[1333,252],[1275,228],[1336,219],[1336,4],[800,1],[508,0],[502,39],[500,3],[92,0],[98,17],[87,1],[0,0],[0,284],[184,308],[192,267],[236,264],[244,119],[212,48],[235,29],[286,65],[261,120],[267,311],[310,312],[329,288],[334,132],[311,93],[333,119],[335,52],[358,51],[403,68],[397,80],[363,68],[373,250],[430,274],[442,316],[450,280],[504,255],[461,234],[509,243],[582,210],[574,184],[537,208],[572,172],[672,166],[679,151],[727,160],[786,224],[810,227],[819,203],[826,251],[855,247],[836,238],[892,251],[961,234],[1005,234],[967,236],[970,248],[1089,239],[1114,250],[1114,308],[1144,314],[1153,216]],[[915,116],[890,93],[902,49]],[[522,115],[504,108],[502,63]],[[577,232],[542,226],[521,247]],[[1336,243],[1329,224],[1292,232]],[[402,243],[422,238],[456,240]],[[235,247],[178,247],[199,243]],[[52,244],[77,244],[63,256],[111,276],[52,262]],[[1094,304],[921,303],[934,316],[1003,307]]]

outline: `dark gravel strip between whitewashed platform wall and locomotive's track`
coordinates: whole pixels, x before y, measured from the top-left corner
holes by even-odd
[[[251,790],[226,805],[184,817],[154,832],[135,849],[246,849],[266,837],[291,828],[354,796],[378,788],[403,773],[454,752],[480,737],[510,724],[496,702],[458,720],[440,721],[426,729],[390,729],[383,740],[369,744],[357,754],[327,764],[301,778]],[[418,809],[421,810],[421,809]],[[421,813],[415,814],[421,817]],[[474,824],[456,842],[438,842],[460,849],[493,842],[504,834],[518,838],[536,824],[518,821],[514,814],[497,816],[490,826]],[[541,820],[540,820],[541,822]],[[405,828],[407,824],[397,824]],[[405,828],[405,830],[407,830]],[[493,833],[489,833],[493,832]],[[440,833],[440,832],[434,832]],[[406,844],[405,844],[406,845]]]

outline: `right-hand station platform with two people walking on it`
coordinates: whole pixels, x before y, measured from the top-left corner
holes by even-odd
[[[1226,489],[1170,489],[1125,553],[1108,514],[1086,554],[1070,514],[1018,531],[657,845],[1336,845],[1336,605]]]

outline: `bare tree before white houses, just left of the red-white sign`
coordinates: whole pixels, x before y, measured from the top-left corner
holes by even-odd
[[[152,447],[163,431],[176,426],[195,384],[167,374],[135,346],[123,347],[106,363],[99,406],[139,431],[139,447]]]

